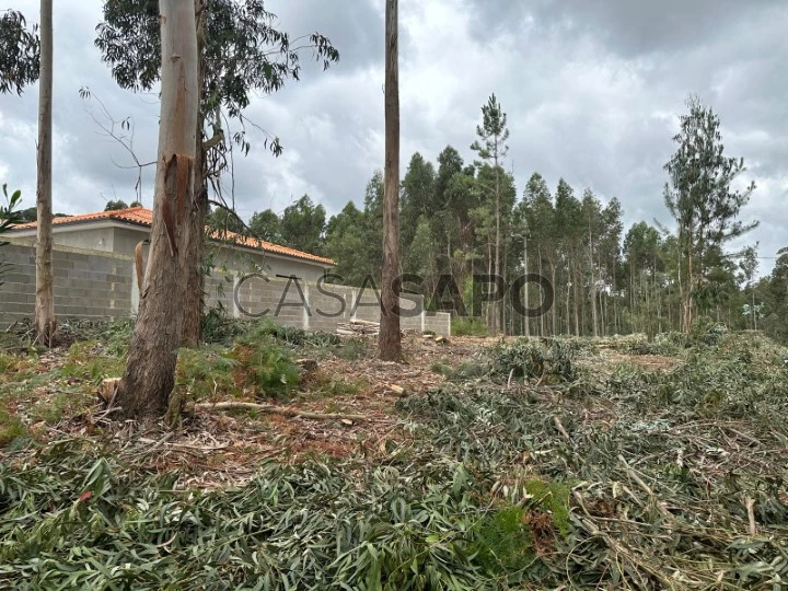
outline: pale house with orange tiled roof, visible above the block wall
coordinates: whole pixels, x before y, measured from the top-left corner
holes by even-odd
[[[53,220],[56,245],[132,256],[137,244],[150,235],[153,212],[142,207],[101,211]],[[35,240],[36,223],[16,225],[7,235]],[[219,236],[217,236],[219,237]],[[271,277],[292,277],[314,282],[334,266],[329,258],[227,232],[215,240],[217,267],[241,270],[253,265]]]

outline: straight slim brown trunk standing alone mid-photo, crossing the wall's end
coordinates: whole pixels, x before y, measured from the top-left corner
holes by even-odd
[[[399,39],[398,0],[386,0],[385,16],[385,173],[383,179],[383,294],[380,357],[399,361]]]

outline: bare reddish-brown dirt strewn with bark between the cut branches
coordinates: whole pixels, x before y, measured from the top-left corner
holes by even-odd
[[[452,337],[437,343],[434,338],[408,335],[403,341],[403,363],[378,360],[372,341],[368,355],[360,359],[347,360],[333,354],[318,356],[316,370],[305,375],[298,394],[276,406],[290,414],[327,414],[333,416],[331,419],[255,410],[194,412],[187,406],[174,433],[164,426],[140,433],[134,425],[118,428],[108,421],[96,399],[94,410],[78,416],[66,413],[57,426],[42,422],[40,429],[47,432],[37,434],[51,440],[85,438],[93,444],[116,447],[118,453],[151,470],[177,470],[184,474],[181,479],[184,486],[199,488],[241,485],[262,462],[271,459],[288,462],[304,456],[357,455],[382,461],[394,450],[408,447],[409,434],[403,429],[403,417],[395,412],[396,402],[440,386],[445,378],[437,371],[438,366],[456,368],[501,340]],[[626,356],[604,349],[600,356],[606,367],[636,362],[649,369],[664,369],[675,362],[670,358]],[[38,360],[42,371],[61,362],[57,351]],[[38,404],[48,404],[50,391],[51,385],[39,386],[30,394]]]

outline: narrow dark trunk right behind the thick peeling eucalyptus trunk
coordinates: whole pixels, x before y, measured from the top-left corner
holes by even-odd
[[[197,77],[200,93],[205,92],[205,42],[206,13],[205,0],[195,0],[195,31],[197,33]],[[202,340],[202,296],[205,292],[205,275],[202,274],[202,256],[205,254],[205,225],[208,217],[208,178],[206,172],[206,151],[202,144],[206,113],[200,96],[199,115],[197,116],[195,151],[195,188],[194,207],[189,216],[189,245],[186,253],[187,279],[186,303],[184,305],[184,326],[181,338],[184,347],[198,347]]]

